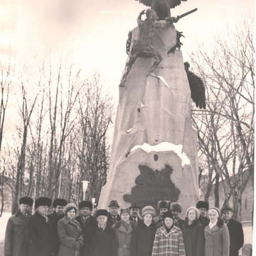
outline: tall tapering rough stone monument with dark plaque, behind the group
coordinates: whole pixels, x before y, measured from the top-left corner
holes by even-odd
[[[155,208],[157,201],[169,200],[185,210],[199,200],[197,132],[191,125],[191,93],[179,49],[180,33],[173,25],[178,18],[156,20],[153,12],[147,10],[145,20],[145,11],[140,13],[138,27],[127,40],[129,56],[119,87],[100,208],[113,199],[122,207],[136,202]],[[148,41],[141,43],[145,38]]]

